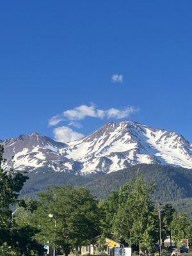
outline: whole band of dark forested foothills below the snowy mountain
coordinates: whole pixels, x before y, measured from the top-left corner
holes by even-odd
[[[24,185],[20,196],[34,198],[38,192],[49,188],[51,185],[68,184],[70,186],[84,186],[98,198],[107,198],[113,189],[119,189],[130,179],[135,178],[138,173],[143,175],[146,182],[156,184],[154,201],[174,201],[173,204],[177,205],[178,209],[190,208],[189,204],[192,205],[190,199],[180,200],[192,198],[192,170],[162,164],[137,164],[105,175],[94,173],[86,176],[38,168],[38,172],[28,173],[29,180]],[[191,212],[189,209],[188,213],[191,214]]]

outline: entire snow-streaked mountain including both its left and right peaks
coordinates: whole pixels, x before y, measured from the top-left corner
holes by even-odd
[[[183,136],[128,121],[106,124],[68,145],[39,134],[19,136],[3,145],[6,166],[18,169],[49,166],[85,175],[115,172],[138,163],[192,168],[192,145]]]

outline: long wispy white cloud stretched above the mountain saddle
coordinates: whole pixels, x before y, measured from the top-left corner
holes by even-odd
[[[79,120],[83,120],[87,116],[93,118],[125,118],[131,115],[132,113],[137,112],[139,109],[129,106],[124,109],[110,108],[110,109],[98,109],[95,105],[81,105],[73,109],[68,109],[63,111],[62,115],[52,116],[49,120],[49,125],[57,125],[61,121],[69,121],[68,125],[72,125],[76,128],[81,128],[82,125],[79,124]]]

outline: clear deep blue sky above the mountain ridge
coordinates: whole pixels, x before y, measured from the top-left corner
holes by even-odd
[[[191,8],[191,0],[1,3],[0,138],[135,120],[192,141]],[[91,116],[63,118],[82,105]],[[64,120],[50,126],[55,115]]]

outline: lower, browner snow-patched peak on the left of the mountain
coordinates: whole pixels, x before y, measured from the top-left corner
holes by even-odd
[[[60,151],[67,147],[65,143],[56,142],[38,133],[20,135],[15,139],[5,140],[3,168],[13,167],[19,170],[34,170],[49,167],[55,171],[68,170],[76,172],[79,163],[62,156]]]

